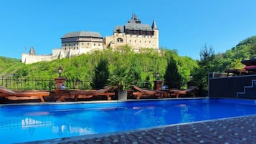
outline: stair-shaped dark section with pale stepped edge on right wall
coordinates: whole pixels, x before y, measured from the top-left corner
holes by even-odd
[[[256,99],[256,80],[252,80],[252,86],[245,86],[244,92],[237,92],[237,97]]]

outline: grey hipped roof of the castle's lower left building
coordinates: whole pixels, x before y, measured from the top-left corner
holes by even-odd
[[[69,38],[69,37],[100,37],[102,38],[102,36],[100,35],[99,32],[69,32],[67,34],[65,34],[63,38]]]

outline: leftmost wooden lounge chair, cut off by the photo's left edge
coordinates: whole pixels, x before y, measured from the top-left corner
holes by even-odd
[[[44,91],[25,91],[14,92],[0,87],[0,97],[6,97],[9,100],[37,100],[40,99],[44,102],[44,96],[49,96],[49,92]]]

